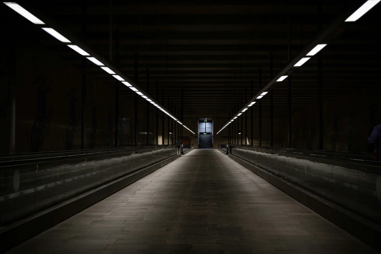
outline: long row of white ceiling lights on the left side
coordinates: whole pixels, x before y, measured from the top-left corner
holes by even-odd
[[[36,24],[36,25],[45,25],[44,22],[42,22],[39,18],[37,18],[36,16],[34,16],[32,13],[28,12],[27,10],[25,10],[23,7],[21,7],[18,3],[16,2],[4,2],[4,4],[6,4],[8,7],[10,7],[11,9],[13,9],[14,11],[16,11],[18,14],[20,14],[21,16],[23,16],[24,18],[28,19],[29,21],[31,21],[32,23]],[[81,54],[83,56],[85,56],[87,59],[89,59],[92,63],[94,63],[95,65],[99,66],[100,68],[102,68],[105,72],[111,74],[114,78],[116,78],[117,80],[121,81],[124,85],[126,85],[129,89],[131,89],[132,91],[136,92],[137,94],[139,94],[140,96],[142,96],[145,100],[147,100],[148,102],[150,102],[153,106],[155,106],[156,108],[160,109],[163,111],[163,113],[167,114],[169,117],[171,117],[173,120],[177,121],[181,126],[185,127],[186,129],[188,129],[190,132],[192,132],[193,134],[195,134],[192,130],[190,130],[188,127],[186,127],[185,125],[183,125],[178,119],[176,119],[174,116],[172,116],[170,113],[168,113],[167,111],[165,111],[162,107],[160,107],[158,104],[156,104],[154,101],[152,101],[151,99],[149,99],[143,92],[139,91],[138,89],[136,89],[135,87],[133,87],[130,83],[128,83],[123,77],[121,77],[120,75],[117,75],[114,71],[112,71],[109,67],[105,66],[101,61],[99,61],[98,59],[96,59],[95,57],[91,56],[89,53],[87,53],[85,50],[81,49],[80,47],[78,47],[77,45],[75,44],[72,44],[72,42],[67,39],[65,36],[62,36],[60,33],[58,33],[57,31],[55,31],[53,28],[50,28],[50,27],[43,27],[42,28],[45,32],[49,33],[51,36],[54,36],[56,39],[58,39],[59,41],[63,42],[63,43],[68,43],[68,47],[70,47],[71,49],[73,49],[75,52],[77,52],[78,54]],[[70,44],[69,44],[70,43]]]

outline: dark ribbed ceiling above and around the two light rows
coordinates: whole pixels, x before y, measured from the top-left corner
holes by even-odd
[[[359,6],[363,1],[358,1]],[[33,3],[67,32],[86,40],[87,45],[109,59],[110,1],[54,0]],[[319,33],[322,26],[345,9],[346,1],[118,1],[112,0],[112,61],[120,54],[120,69],[134,77],[138,54],[139,86],[146,88],[150,72],[150,93],[165,91],[180,106],[184,91],[184,117],[227,117],[233,105],[250,98],[253,80],[258,91],[258,70],[262,84],[288,60],[288,38],[292,58]],[[319,14],[319,5],[322,13]],[[381,4],[353,23],[343,23],[344,31],[323,50],[324,100],[377,83],[381,74],[379,14]],[[18,14],[8,12],[16,18]],[[19,18],[19,17],[17,17]],[[86,32],[83,32],[85,27]],[[41,32],[43,33],[43,32]],[[81,57],[51,36],[41,37],[49,50],[74,64]],[[119,44],[119,46],[117,46]],[[378,56],[377,56],[378,55]],[[115,81],[88,62],[88,72],[113,87]],[[317,104],[317,57],[292,75],[292,110]],[[134,94],[121,87],[123,99]],[[287,113],[287,82],[273,88],[274,116]],[[161,99],[160,99],[161,101]],[[141,99],[141,103],[145,100]],[[270,114],[270,96],[263,99],[263,116]],[[250,110],[249,110],[250,111]],[[254,116],[258,107],[254,105]]]

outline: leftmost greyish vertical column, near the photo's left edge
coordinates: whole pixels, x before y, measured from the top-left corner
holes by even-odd
[[[10,40],[9,63],[9,153],[16,153],[16,41]]]

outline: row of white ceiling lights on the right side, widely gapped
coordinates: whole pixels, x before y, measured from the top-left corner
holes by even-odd
[[[357,19],[361,18],[365,13],[367,13],[370,9],[372,9],[374,6],[376,6],[377,3],[379,3],[381,0],[368,0],[366,1],[359,9],[357,9],[349,18],[345,19],[345,22],[353,22]],[[306,57],[301,58],[296,64],[294,64],[293,67],[300,67],[303,64],[305,64],[312,56],[317,54],[319,51],[321,51],[324,47],[326,47],[327,44],[318,44],[316,45],[308,54]],[[276,80],[276,82],[282,82],[288,77],[288,75],[283,75],[280,78]],[[263,96],[265,96],[268,92],[262,92],[261,95],[256,97],[256,99],[261,99]],[[255,104],[255,101],[250,103],[248,107],[251,107]],[[243,112],[245,112],[248,108],[244,108],[237,116],[235,116],[232,120],[230,120],[224,127],[222,127],[218,132],[221,132],[225,127],[227,127],[230,123],[232,123],[238,116],[242,115]]]

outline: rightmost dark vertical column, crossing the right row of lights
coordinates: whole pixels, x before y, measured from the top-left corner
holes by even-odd
[[[322,29],[322,5],[318,7],[319,31]],[[322,51],[318,53],[318,149],[323,150],[323,69]]]

